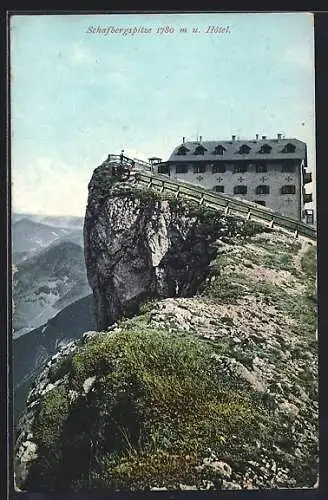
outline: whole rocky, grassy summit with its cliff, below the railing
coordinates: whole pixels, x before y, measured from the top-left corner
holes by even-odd
[[[316,246],[111,175],[89,184],[98,331],[44,365],[16,488],[312,488]]]

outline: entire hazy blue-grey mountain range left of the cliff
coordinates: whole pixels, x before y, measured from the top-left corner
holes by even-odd
[[[94,329],[83,218],[13,214],[14,414],[58,346]]]

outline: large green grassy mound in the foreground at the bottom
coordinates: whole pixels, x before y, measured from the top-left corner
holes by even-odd
[[[176,488],[200,484],[204,472],[195,467],[208,448],[231,466],[256,459],[256,440],[279,441],[277,417],[257,393],[224,376],[212,352],[186,334],[146,328],[81,347],[67,384],[41,403],[33,432],[42,453],[29,488]],[[80,394],[73,401],[72,390]]]

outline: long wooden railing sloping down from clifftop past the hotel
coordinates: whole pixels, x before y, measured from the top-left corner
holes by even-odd
[[[110,159],[120,160],[121,157],[120,155],[110,155]],[[123,156],[123,163],[141,167],[141,170],[135,172],[134,176],[136,184],[143,188],[153,189],[160,193],[168,193],[176,198],[186,198],[210,209],[223,211],[225,215],[237,215],[247,220],[263,223],[272,228],[283,229],[289,233],[293,233],[295,237],[303,236],[310,240],[317,239],[317,233],[314,228],[290,217],[280,215],[268,208],[254,206],[255,204],[252,202],[230,198],[226,195],[214,193],[182,181],[173,181],[165,175],[154,174],[151,172],[151,165],[143,160],[137,160],[136,158],[131,160]]]

